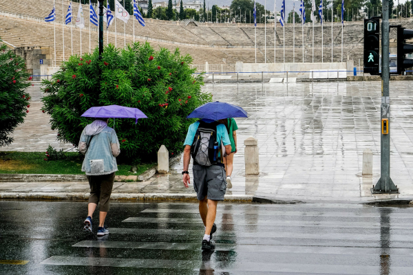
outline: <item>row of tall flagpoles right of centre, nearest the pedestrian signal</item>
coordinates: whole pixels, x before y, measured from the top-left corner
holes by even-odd
[[[254,27],[255,27],[255,63],[257,63],[257,9],[256,9],[256,0],[254,0]],[[286,42],[285,42],[285,27],[284,21],[286,18],[286,1],[282,0],[281,5],[281,18],[279,23],[283,27],[283,63],[286,62]],[[277,0],[274,0],[274,63],[276,63],[276,45],[277,45]],[[266,0],[264,2],[264,10],[266,11]],[[304,0],[301,0],[299,11],[301,12],[301,34],[302,34],[302,54],[303,54],[303,63],[304,63],[304,24],[306,23],[306,9],[304,7]],[[314,12],[315,0],[312,0],[311,3],[311,21],[313,22],[313,63],[314,63],[314,22],[317,20]],[[320,5],[318,8],[320,23],[321,23],[321,63],[324,63],[324,24],[323,24],[323,0],[320,0]],[[343,62],[343,25],[344,25],[344,0],[341,0],[341,62]],[[266,12],[264,19],[264,63],[266,63]],[[295,1],[293,0],[293,63],[295,62]],[[333,12],[331,8],[331,62],[333,60],[333,37],[332,37],[332,26],[333,26]]]

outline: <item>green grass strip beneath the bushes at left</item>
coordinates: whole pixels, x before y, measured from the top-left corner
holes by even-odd
[[[61,174],[83,175],[83,156],[66,153],[67,159],[45,161],[45,153],[40,152],[0,152],[1,174]],[[136,173],[131,173],[130,164],[118,164],[116,175],[140,175],[155,164],[138,164]]]

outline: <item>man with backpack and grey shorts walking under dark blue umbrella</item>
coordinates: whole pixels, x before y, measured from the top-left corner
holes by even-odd
[[[189,126],[184,142],[184,186],[189,187],[189,160],[193,157],[193,188],[200,201],[199,210],[205,226],[202,250],[213,250],[211,239],[216,232],[215,216],[218,201],[224,200],[226,173],[222,157],[231,153],[231,141],[224,118],[246,117],[246,112],[237,106],[222,102],[210,102],[195,109],[187,118],[201,118]],[[224,147],[224,148],[223,148]]]

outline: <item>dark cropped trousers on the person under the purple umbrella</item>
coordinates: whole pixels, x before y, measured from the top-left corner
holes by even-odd
[[[109,199],[114,187],[115,173],[109,175],[87,176],[90,186],[89,203],[100,202],[101,212],[109,211]]]

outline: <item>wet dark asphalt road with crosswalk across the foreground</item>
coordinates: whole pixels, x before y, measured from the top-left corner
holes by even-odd
[[[413,208],[220,203],[215,252],[195,203],[112,203],[105,239],[86,208],[0,201],[0,274],[413,274]]]

